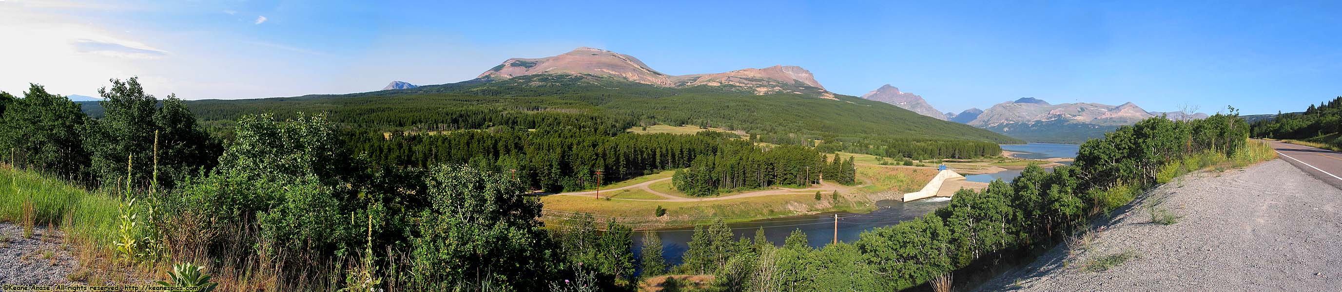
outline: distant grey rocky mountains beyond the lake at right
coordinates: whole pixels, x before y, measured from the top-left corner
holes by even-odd
[[[1165,115],[1170,119],[1202,119],[1206,114],[1185,114],[1181,111],[1146,111],[1131,102],[1110,106],[1102,103],[1060,103],[1051,104],[1037,98],[1020,98],[1013,102],[997,103],[988,110],[969,108],[960,114],[941,113],[922,96],[902,92],[884,84],[872,90],[864,99],[884,102],[937,119],[966,123],[988,129],[1029,142],[1080,143],[1090,138],[1103,137],[1103,133],[1118,126]]]

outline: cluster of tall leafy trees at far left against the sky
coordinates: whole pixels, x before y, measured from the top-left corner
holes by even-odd
[[[111,87],[98,94],[106,108],[101,119],[39,84],[23,98],[0,92],[0,147],[20,167],[91,185],[170,188],[216,162],[219,141],[177,96],[145,94],[136,78],[111,79]],[[158,167],[150,170],[152,165]]]

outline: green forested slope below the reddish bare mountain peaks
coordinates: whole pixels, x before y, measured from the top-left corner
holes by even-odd
[[[701,125],[743,130],[761,141],[898,137],[1017,143],[992,131],[926,118],[896,106],[837,95],[754,95],[730,86],[656,87],[589,75],[527,75],[409,90],[297,98],[189,100],[203,121],[274,111],[329,113],[333,122],[382,130],[462,130],[564,126],[615,135],[641,125]],[[95,106],[86,111],[99,117]]]

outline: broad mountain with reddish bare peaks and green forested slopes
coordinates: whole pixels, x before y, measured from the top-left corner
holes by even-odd
[[[749,133],[761,142],[786,145],[828,139],[891,147],[921,141],[966,147],[1024,142],[829,92],[811,71],[796,66],[667,75],[629,55],[577,48],[548,58],[513,58],[482,71],[475,79],[456,83],[392,82],[388,90],[357,94],[187,100],[187,104],[201,121],[234,121],[264,113],[327,113],[334,122],[378,130],[562,127],[617,135],[640,125],[660,123],[729,129]],[[91,117],[103,114],[98,104],[85,104],[83,110]]]

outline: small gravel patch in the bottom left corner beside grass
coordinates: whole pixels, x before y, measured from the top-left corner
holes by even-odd
[[[64,240],[63,232],[40,225],[24,238],[21,226],[0,222],[0,284],[76,284],[67,275],[79,263],[70,254],[74,248],[62,244]]]

